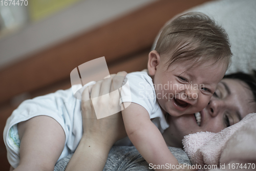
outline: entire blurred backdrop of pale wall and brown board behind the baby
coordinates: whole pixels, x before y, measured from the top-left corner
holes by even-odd
[[[110,73],[146,68],[167,20],[209,0],[30,0],[0,2],[0,163],[3,130],[25,99],[71,87],[70,72],[105,56]],[[13,1],[12,1],[13,3]],[[27,3],[27,4],[25,4]]]

